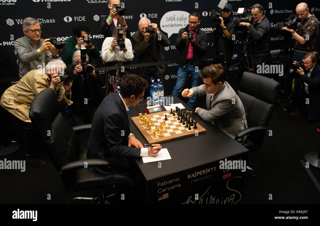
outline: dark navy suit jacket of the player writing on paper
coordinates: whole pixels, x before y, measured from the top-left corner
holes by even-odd
[[[92,120],[87,158],[106,159],[114,165],[122,157],[140,157],[140,148],[128,147],[129,134],[129,118],[119,93],[106,96]]]

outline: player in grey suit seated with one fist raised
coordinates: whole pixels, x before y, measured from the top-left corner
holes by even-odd
[[[221,64],[211,64],[201,71],[204,85],[182,91],[183,97],[206,95],[207,110],[196,108],[205,121],[213,122],[220,130],[235,138],[236,133],[248,128],[244,106],[228,82]]]

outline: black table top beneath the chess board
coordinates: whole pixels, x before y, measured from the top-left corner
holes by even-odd
[[[198,136],[190,136],[162,143],[162,148],[168,149],[171,159],[148,163],[143,163],[142,158],[136,159],[141,172],[147,180],[220,159],[228,159],[230,156],[248,151],[247,148],[222,132],[214,124],[200,118],[194,109],[182,102],[179,98],[172,95],[168,97],[173,97],[173,103],[182,103],[186,108],[183,110],[192,111],[193,113],[188,113],[188,115],[198,124],[202,125],[207,132],[200,133]],[[140,113],[144,113],[146,107],[147,100],[143,100],[137,106],[129,107],[130,111],[128,111],[131,132],[142,144],[147,143],[147,140],[143,137],[136,125],[133,124],[131,117],[139,116],[137,108],[142,109],[140,110]],[[166,111],[164,107],[161,108],[162,111]],[[161,168],[158,168],[158,162],[161,162]]]

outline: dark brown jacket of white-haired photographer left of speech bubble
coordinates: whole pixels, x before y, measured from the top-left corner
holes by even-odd
[[[136,31],[132,35],[132,40],[134,42],[134,53],[139,57],[139,63],[148,63],[149,57],[151,57],[152,62],[164,61],[164,56],[160,51],[160,44],[163,46],[169,46],[170,41],[162,32],[160,32],[161,40],[158,40],[158,35],[155,33],[151,36],[149,42],[144,40],[144,36],[140,34],[140,31]],[[166,65],[156,66],[159,72],[164,75]],[[143,78],[146,73],[147,67],[139,67],[137,69],[138,75]]]

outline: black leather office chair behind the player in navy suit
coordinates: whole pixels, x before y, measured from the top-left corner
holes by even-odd
[[[80,147],[76,131],[91,128],[91,124],[71,127],[60,113],[61,105],[54,91],[41,91],[31,103],[29,117],[38,132],[42,146],[58,170],[66,191],[97,189],[99,198],[75,198],[108,203],[103,192],[114,194],[133,186],[133,180],[125,173],[113,173],[112,166],[103,159],[86,159],[87,147]],[[88,137],[87,137],[88,138]],[[87,139],[86,139],[87,140]],[[85,141],[86,144],[86,141]],[[87,168],[85,168],[87,166]],[[91,172],[89,167],[105,166],[111,174]]]

